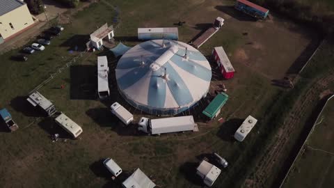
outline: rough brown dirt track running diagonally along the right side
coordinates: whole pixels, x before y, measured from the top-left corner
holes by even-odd
[[[319,93],[325,91],[329,84],[334,81],[334,70],[328,72],[326,77],[318,79],[308,91],[301,95],[300,99],[294,104],[290,111],[290,115],[284,120],[273,141],[269,143],[265,150],[265,155],[259,160],[260,163],[255,167],[254,173],[248,176],[244,183],[244,187],[265,187],[266,181],[273,175],[274,167],[281,162],[283,154],[289,145],[294,127],[301,123],[301,117],[310,108],[313,101],[319,100]]]

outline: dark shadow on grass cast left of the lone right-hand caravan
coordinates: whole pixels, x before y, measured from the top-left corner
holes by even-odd
[[[244,119],[232,118],[227,120],[223,125],[221,125],[217,136],[221,137],[224,141],[234,141],[234,133],[244,122]]]

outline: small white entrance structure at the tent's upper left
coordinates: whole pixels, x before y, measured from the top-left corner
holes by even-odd
[[[99,29],[90,34],[90,41],[88,42],[88,47],[93,46],[96,49],[100,49],[104,43],[108,43],[113,39],[113,26],[108,26],[104,24]]]

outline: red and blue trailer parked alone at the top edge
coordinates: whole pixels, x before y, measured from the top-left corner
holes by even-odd
[[[237,0],[234,8],[257,19],[266,19],[269,10],[247,0]]]

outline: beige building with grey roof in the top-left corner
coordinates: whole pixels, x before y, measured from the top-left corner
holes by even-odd
[[[0,43],[33,24],[28,6],[21,0],[0,0]]]

